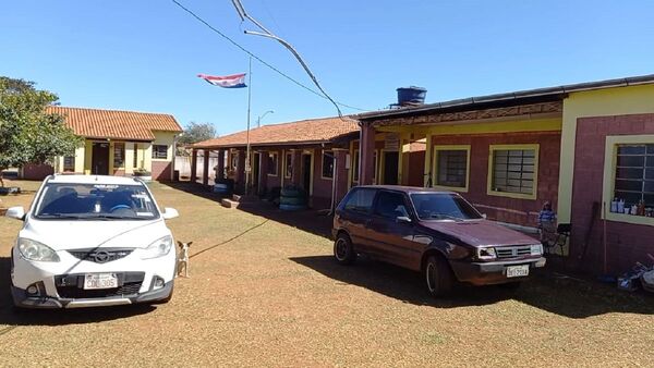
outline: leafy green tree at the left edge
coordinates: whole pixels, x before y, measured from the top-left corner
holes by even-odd
[[[73,155],[83,139],[63,116],[46,112],[57,95],[34,87],[34,82],[0,76],[0,171],[27,163],[53,163]],[[4,186],[0,176],[0,185]]]

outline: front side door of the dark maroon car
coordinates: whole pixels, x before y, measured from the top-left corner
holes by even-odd
[[[380,259],[410,267],[414,253],[414,220],[401,192],[379,191],[367,223],[371,253]]]

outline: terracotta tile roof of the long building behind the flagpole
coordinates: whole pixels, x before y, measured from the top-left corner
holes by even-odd
[[[322,118],[301,120],[283,124],[270,124],[250,130],[253,146],[326,143],[347,134],[359,132],[355,120],[350,118]],[[196,143],[196,148],[245,146],[247,132],[238,132],[222,137]]]

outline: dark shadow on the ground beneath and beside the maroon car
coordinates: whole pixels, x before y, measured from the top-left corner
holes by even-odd
[[[654,298],[650,295],[626,294],[613,285],[558,278],[545,272],[536,273],[517,291],[499,286],[459,285],[452,295],[435,299],[427,294],[419,273],[384,262],[360,258],[355,265],[347,267],[338,265],[331,256],[290,259],[343,284],[365,287],[404,303],[436,308],[483,306],[514,299],[568,318],[608,312],[654,315]]]

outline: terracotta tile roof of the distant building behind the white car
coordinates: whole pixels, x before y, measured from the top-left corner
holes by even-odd
[[[63,115],[76,135],[87,138],[154,140],[153,131],[182,132],[174,118],[164,113],[60,106],[50,106],[47,111]]]

